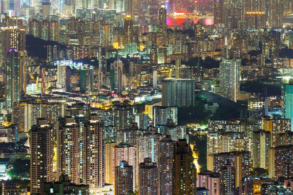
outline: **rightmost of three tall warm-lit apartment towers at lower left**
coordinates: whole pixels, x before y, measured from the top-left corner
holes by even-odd
[[[105,186],[105,142],[103,123],[91,114],[83,131],[83,179],[90,191],[101,191]]]

